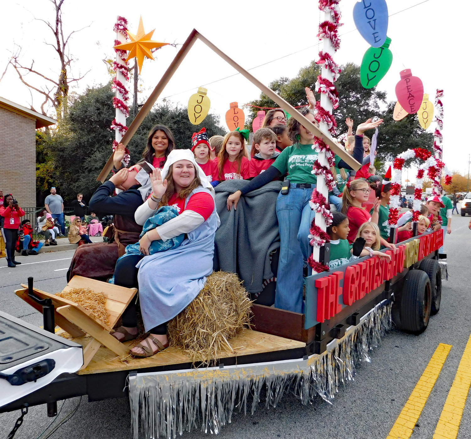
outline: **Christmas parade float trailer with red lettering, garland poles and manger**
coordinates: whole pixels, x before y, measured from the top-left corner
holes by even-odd
[[[374,3],[385,6],[385,2]],[[340,72],[333,55],[340,44],[341,15],[338,0],[321,0],[319,8],[325,14],[318,33],[323,40],[318,61],[322,73],[316,84],[321,93],[316,107],[319,128],[196,30],[190,33],[130,127],[125,126],[125,118],[118,113],[126,112],[126,88],[119,77],[114,81],[117,93],[121,94],[114,101],[117,113],[113,125],[119,132],[116,141],[127,145],[195,41],[200,40],[315,134],[313,150],[318,159],[312,172],[318,178],[311,199],[316,216],[311,227],[313,254],[309,261],[313,274],[306,278],[305,312],[284,311],[255,300],[250,307],[250,326],[246,325],[228,340],[230,349],[220,350],[212,358],[198,359],[197,355],[191,356],[171,346],[153,357],[133,359],[127,356],[130,342],[120,343],[110,332],[134,298],[135,288],[78,276],[70,280],[63,293],[77,288],[103,293],[108,316],[103,322],[72,300],[38,290],[33,279],[28,279],[28,284],[22,285],[16,294],[43,313],[44,329],[33,328],[0,313],[0,330],[5,334],[24,334],[24,337],[17,335],[16,339],[27,344],[23,351],[7,353],[1,358],[0,411],[24,410],[26,405],[47,403],[48,414],[53,416],[55,403],[60,399],[81,395],[87,395],[89,401],[129,397],[134,438],[174,438],[193,429],[217,433],[231,422],[236,412],[253,413],[261,404],[274,407],[287,391],[293,392],[303,404],[312,402],[317,395],[331,403],[339,386],[353,379],[358,364],[368,359],[371,349],[379,345],[392,324],[414,334],[426,329],[430,314],[439,311],[442,271],[446,263],[439,262],[442,230],[416,236],[417,203],[421,199],[421,179],[425,172],[433,178],[435,191],[439,193],[444,170],[442,113],[436,116],[436,157],[427,150],[417,149],[400,154],[393,164],[391,192],[397,192],[399,185],[400,193],[400,171],[405,160],[423,160],[416,180],[413,237],[398,243],[394,252],[383,250],[391,256],[389,261],[365,256],[329,271],[329,240],[325,233],[332,217],[331,207],[326,202],[333,178],[329,168],[334,154],[353,169],[359,169],[361,164],[333,140],[336,121],[332,110],[338,102],[334,83]],[[387,9],[386,13],[380,9],[377,13],[383,20],[386,17],[387,29]],[[375,11],[359,2],[354,14],[358,28],[362,29],[362,14],[371,18]],[[381,30],[379,22],[378,30],[366,35],[372,48],[390,43],[386,40],[386,29]],[[384,27],[384,22],[382,25]],[[125,41],[121,39],[117,43],[125,44]],[[371,56],[378,59],[377,53],[371,52]],[[121,58],[121,62],[116,63],[118,72],[126,63],[124,55],[118,52]],[[390,64],[389,58],[386,62]],[[374,66],[368,65],[373,72]],[[401,73],[406,87],[411,87],[410,71]],[[373,78],[365,78],[368,86]],[[417,87],[416,101],[422,103],[423,88],[420,89],[416,79],[413,80]],[[407,92],[409,95],[413,93],[411,90]],[[399,90],[398,96],[402,96],[401,93]],[[195,101],[194,114],[188,110],[190,120],[192,116],[196,120],[201,112],[207,114],[209,100],[204,110],[200,105],[205,97],[206,89],[200,88],[196,96],[190,98],[190,102]],[[440,97],[441,91],[438,91],[437,101],[441,107]],[[405,102],[402,97],[398,102],[397,112],[402,112],[403,117],[419,111],[419,105],[416,108],[411,105],[410,96]],[[427,104],[424,108],[427,109]],[[230,105],[229,122],[231,115],[238,114],[239,110],[236,102]],[[104,181],[112,166],[113,156],[98,180]],[[390,242],[394,242],[396,234],[396,192],[392,193],[390,209]],[[276,277],[276,272],[274,275]],[[221,292],[223,288],[220,287]],[[51,334],[55,327],[68,336]],[[34,337],[28,338],[27,334]]]

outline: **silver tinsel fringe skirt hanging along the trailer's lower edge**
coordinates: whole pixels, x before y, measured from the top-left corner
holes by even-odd
[[[317,395],[331,404],[339,386],[353,380],[358,364],[371,361],[369,351],[390,328],[391,304],[379,304],[321,355],[130,375],[133,437],[139,437],[139,421],[146,439],[175,438],[193,429],[217,434],[233,413],[253,414],[262,398],[265,407],[276,407],[285,392],[302,404]]]

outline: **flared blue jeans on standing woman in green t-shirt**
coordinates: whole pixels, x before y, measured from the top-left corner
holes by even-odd
[[[291,187],[276,200],[276,216],[280,228],[280,260],[276,275],[275,307],[303,312],[302,270],[307,265],[312,247],[309,228],[315,212],[309,207],[312,189]]]

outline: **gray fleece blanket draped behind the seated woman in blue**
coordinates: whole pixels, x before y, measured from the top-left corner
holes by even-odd
[[[280,247],[276,218],[276,197],[281,182],[270,182],[242,196],[230,212],[227,197],[247,184],[243,180],[226,180],[218,184],[216,208],[221,225],[216,231],[215,270],[237,273],[249,293],[260,293],[263,279],[271,279],[270,252]]]

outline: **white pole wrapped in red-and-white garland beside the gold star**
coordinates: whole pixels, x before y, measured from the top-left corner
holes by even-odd
[[[114,46],[122,44],[124,41],[128,40],[128,34],[126,33],[127,29],[128,20],[124,17],[118,16],[113,27],[114,32],[116,32]],[[120,49],[114,49],[114,51],[116,52],[116,60],[112,63],[115,75],[113,78],[112,89],[115,93],[113,97],[113,106],[116,109],[116,114],[110,127],[115,132],[113,151],[116,149],[116,146],[118,146],[122,136],[128,129],[126,126],[126,118],[129,116],[129,107],[126,103],[129,101],[129,90],[126,88],[125,81],[130,80],[129,63],[126,61],[128,52]],[[129,150],[126,148],[123,160],[126,166],[129,165],[130,158]]]

